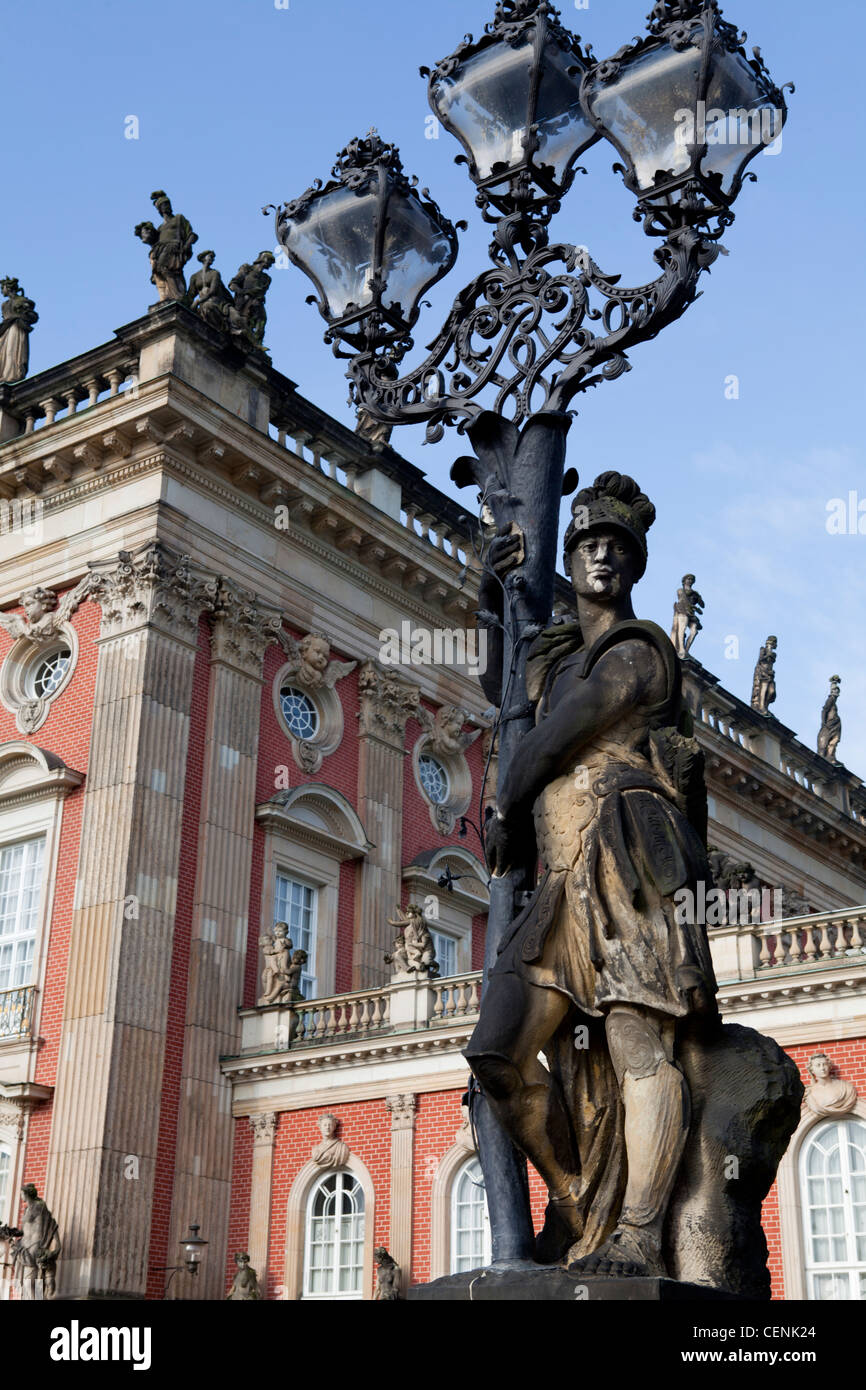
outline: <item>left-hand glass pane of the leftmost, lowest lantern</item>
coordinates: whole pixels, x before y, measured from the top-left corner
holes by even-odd
[[[331,318],[373,306],[370,271],[378,190],[339,188],[316,200],[286,228],[286,250],[321,285]]]

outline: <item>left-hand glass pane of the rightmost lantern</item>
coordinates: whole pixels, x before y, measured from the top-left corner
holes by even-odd
[[[613,82],[598,86],[592,110],[627,152],[641,192],[656,185],[657,170],[687,174],[695,131],[701,50],[651,49]]]

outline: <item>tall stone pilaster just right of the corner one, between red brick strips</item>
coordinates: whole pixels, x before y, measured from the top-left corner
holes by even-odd
[[[267,648],[281,639],[282,623],[254,595],[224,582],[211,626],[170,1250],[197,1220],[215,1252],[228,1240],[234,1141],[231,1084],[220,1073],[220,1056],[240,1047],[261,666]],[[171,1290],[175,1298],[220,1298],[222,1291],[220,1258],[203,1262],[195,1287],[178,1279]]]

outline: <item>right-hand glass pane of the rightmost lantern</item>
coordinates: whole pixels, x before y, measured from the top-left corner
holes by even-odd
[[[730,193],[752,154],[781,133],[783,120],[741,53],[716,54],[706,93],[703,171],[721,174],[721,188]]]

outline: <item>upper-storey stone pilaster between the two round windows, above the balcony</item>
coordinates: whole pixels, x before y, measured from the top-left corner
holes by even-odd
[[[388,977],[388,917],[400,901],[406,723],[417,714],[421,692],[374,662],[361,666],[359,689],[357,810],[374,848],[356,899],[353,988],[367,990]]]

